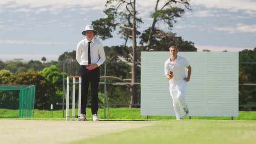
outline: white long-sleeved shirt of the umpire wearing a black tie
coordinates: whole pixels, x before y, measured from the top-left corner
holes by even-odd
[[[90,52],[91,52],[91,64],[101,65],[105,59],[105,52],[102,46],[102,43],[97,39],[92,39],[90,43]],[[88,39],[81,40],[76,47],[76,60],[80,65],[88,65]],[[100,59],[98,59],[100,56]]]

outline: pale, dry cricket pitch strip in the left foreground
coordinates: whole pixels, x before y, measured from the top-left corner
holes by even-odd
[[[154,121],[33,121],[0,120],[3,144],[63,144],[108,133],[126,131]]]

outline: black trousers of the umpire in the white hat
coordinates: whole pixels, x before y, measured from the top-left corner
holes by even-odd
[[[85,65],[81,65],[79,75],[82,77],[81,88],[81,114],[86,115],[87,95],[89,84],[91,83],[92,92],[92,115],[98,114],[98,84],[99,84],[99,68],[93,70],[86,69]]]

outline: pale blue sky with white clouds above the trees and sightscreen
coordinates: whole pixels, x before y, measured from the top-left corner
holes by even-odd
[[[165,0],[161,0],[160,6]],[[106,0],[0,0],[0,60],[57,61],[76,50],[85,38],[81,32],[92,21],[105,17]],[[141,32],[152,24],[156,0],[137,0]],[[172,32],[191,41],[198,52],[238,52],[256,47],[256,0],[190,0]],[[167,29],[164,23],[158,28]],[[96,29],[97,30],[97,29]],[[124,44],[115,31],[103,46]],[[138,39],[139,42],[139,39]],[[137,42],[137,43],[138,43]],[[131,45],[131,42],[128,43]]]

